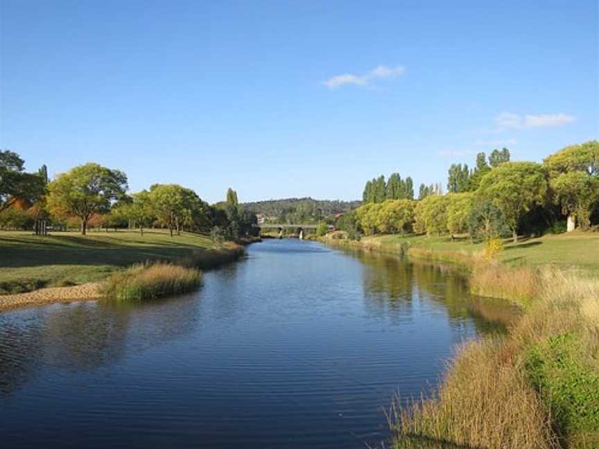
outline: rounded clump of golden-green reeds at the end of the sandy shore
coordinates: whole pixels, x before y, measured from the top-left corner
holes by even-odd
[[[142,263],[110,276],[103,293],[119,301],[139,301],[186,293],[201,283],[202,274],[196,268],[162,262]]]

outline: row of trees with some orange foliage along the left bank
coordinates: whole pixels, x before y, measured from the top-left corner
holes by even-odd
[[[81,234],[90,226],[119,229],[162,227],[171,236],[182,230],[211,232],[214,238],[235,240],[256,235],[256,216],[238,204],[229,188],[226,199],[214,205],[191,188],[153,184],[128,194],[127,175],[121,170],[89,163],[49,180],[47,168],[26,173],[15,152],[0,150],[0,225],[31,229],[35,220],[55,227],[76,225]]]

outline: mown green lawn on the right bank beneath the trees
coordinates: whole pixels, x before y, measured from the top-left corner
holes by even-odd
[[[430,237],[398,235],[376,236],[381,245],[399,244],[408,241],[413,247],[422,247],[433,251],[480,252],[482,243],[469,243],[469,240],[451,242],[447,236]],[[599,273],[599,233],[575,231],[569,234],[547,235],[539,238],[522,239],[512,243],[504,240],[505,251],[501,261],[510,265],[539,266],[554,264],[562,268],[577,268],[584,272]]]

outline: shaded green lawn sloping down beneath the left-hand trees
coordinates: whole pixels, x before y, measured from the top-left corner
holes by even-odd
[[[139,231],[31,232],[0,231],[0,294],[73,285],[105,278],[114,270],[146,260],[173,260],[194,249],[213,247],[207,236],[169,236],[153,229]]]

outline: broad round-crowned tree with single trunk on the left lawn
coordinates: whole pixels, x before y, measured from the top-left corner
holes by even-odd
[[[89,163],[71,168],[48,184],[47,203],[53,213],[77,217],[85,235],[89,218],[107,213],[126,190],[125,173]]]

